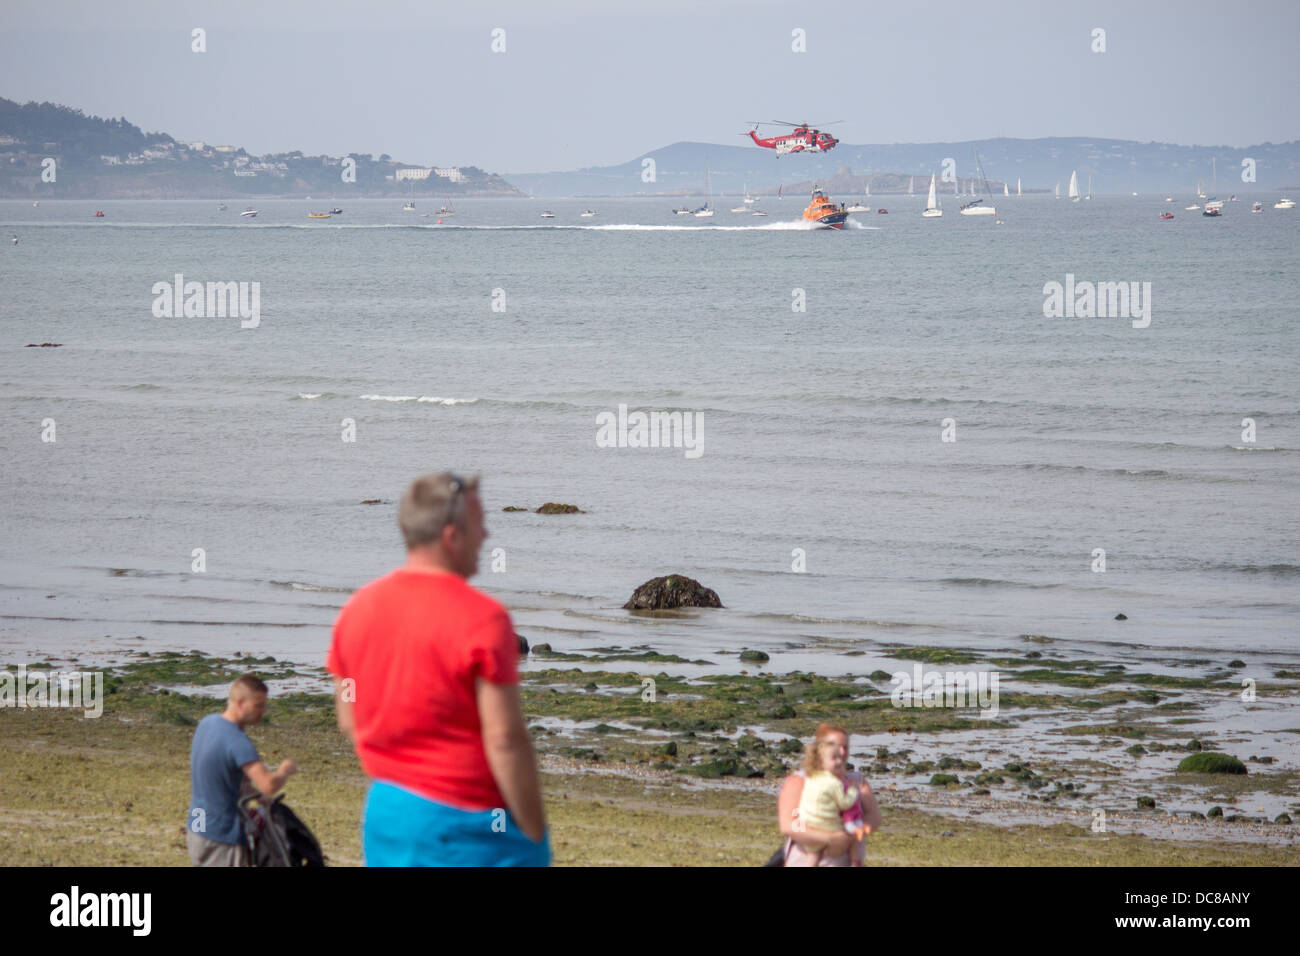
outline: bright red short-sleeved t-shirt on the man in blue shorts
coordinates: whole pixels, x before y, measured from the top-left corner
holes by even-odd
[[[454,574],[398,568],[343,605],[325,666],[355,680],[361,769],[467,810],[504,806],[474,679],[519,683],[510,614]]]

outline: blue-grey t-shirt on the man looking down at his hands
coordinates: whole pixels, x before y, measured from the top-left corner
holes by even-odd
[[[238,724],[221,714],[199,721],[190,745],[190,830],[217,843],[243,843],[239,767],[255,760],[257,748]]]

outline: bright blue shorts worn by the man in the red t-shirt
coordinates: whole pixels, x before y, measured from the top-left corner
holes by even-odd
[[[510,810],[462,810],[374,780],[361,812],[367,866],[550,866],[551,834],[533,843]]]

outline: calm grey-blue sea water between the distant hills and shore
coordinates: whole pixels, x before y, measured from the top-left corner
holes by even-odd
[[[476,583],[556,649],[1300,661],[1300,213],[890,196],[828,232],[733,202],[0,203],[0,658],[321,663],[403,558],[404,485],[452,468],[484,476]],[[260,324],[156,317],[176,273],[260,284]],[[1067,273],[1149,282],[1149,326],[1045,317]],[[620,405],[698,415],[702,454],[598,446]],[[585,514],[500,510],[546,501]],[[725,610],[620,610],[668,572]]]

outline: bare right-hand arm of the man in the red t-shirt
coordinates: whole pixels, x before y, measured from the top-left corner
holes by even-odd
[[[537,778],[533,741],[524,726],[517,684],[494,684],[477,678],[474,695],[484,752],[506,806],[528,839],[537,843],[546,831],[542,790]]]

